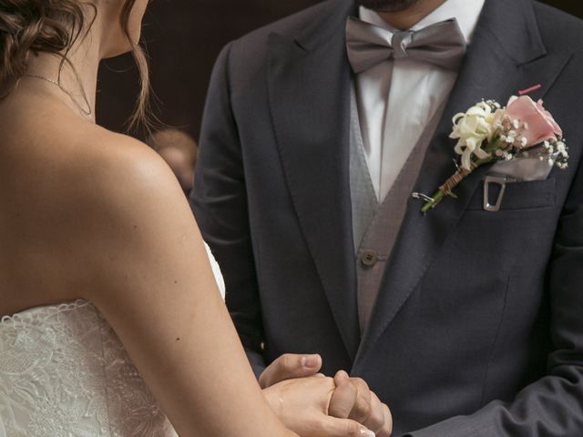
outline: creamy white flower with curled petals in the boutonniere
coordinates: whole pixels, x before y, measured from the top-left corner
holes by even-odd
[[[482,145],[495,136],[500,114],[494,111],[486,102],[480,102],[470,107],[466,113],[456,114],[454,130],[449,136],[458,139],[455,153],[462,156],[462,168],[472,169],[472,157],[486,159],[490,157]]]

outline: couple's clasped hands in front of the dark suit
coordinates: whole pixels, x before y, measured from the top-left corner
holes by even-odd
[[[339,371],[317,373],[319,355],[282,355],[261,374],[260,384],[281,421],[302,437],[389,437],[388,407],[360,378]]]

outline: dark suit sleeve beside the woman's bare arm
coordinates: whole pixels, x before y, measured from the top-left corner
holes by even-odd
[[[220,53],[211,76],[190,205],[203,238],[220,264],[230,315],[251,367],[259,375],[265,367],[261,305],[240,137],[230,99],[230,47]]]

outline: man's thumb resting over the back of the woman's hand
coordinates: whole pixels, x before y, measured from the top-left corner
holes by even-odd
[[[318,354],[295,355],[286,353],[273,361],[261,373],[259,383],[261,389],[267,389],[281,381],[294,380],[313,376],[322,369],[322,357]]]

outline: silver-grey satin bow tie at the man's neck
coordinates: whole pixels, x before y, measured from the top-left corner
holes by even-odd
[[[404,58],[457,70],[466,47],[465,37],[455,18],[416,32],[409,30],[392,34],[353,16],[349,16],[346,23],[346,46],[356,74],[386,59]]]

